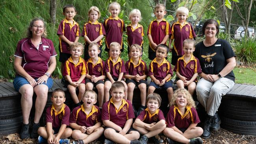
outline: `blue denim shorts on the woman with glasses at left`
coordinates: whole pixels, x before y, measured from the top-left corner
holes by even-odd
[[[37,81],[38,78],[35,78],[35,81]],[[25,79],[22,76],[16,76],[13,80],[13,87],[15,88],[15,90],[17,90],[19,92],[20,87],[22,87],[22,85],[26,85],[26,84],[30,84],[27,79]],[[43,82],[41,84],[47,85],[48,89],[51,89],[53,81],[52,78],[48,78],[47,79],[47,83]],[[39,84],[39,85],[41,85]]]

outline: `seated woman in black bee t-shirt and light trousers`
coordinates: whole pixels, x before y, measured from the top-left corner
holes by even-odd
[[[218,39],[219,24],[209,19],[202,27],[205,39],[195,46],[194,55],[200,61],[202,73],[197,83],[197,99],[207,113],[203,138],[211,136],[211,130],[220,129],[221,119],[217,113],[221,97],[234,86],[233,69],[236,66],[235,54],[230,44]]]

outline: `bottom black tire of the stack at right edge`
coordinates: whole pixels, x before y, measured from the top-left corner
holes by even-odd
[[[226,117],[221,117],[221,127],[233,133],[241,135],[255,135],[256,136],[256,122],[255,121],[241,121]]]

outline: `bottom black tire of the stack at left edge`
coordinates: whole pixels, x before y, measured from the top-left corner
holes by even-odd
[[[17,133],[22,126],[22,116],[10,118],[7,120],[0,120],[0,135],[7,135],[10,133]]]

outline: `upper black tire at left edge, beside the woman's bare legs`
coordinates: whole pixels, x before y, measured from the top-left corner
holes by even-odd
[[[22,115],[20,96],[0,98],[0,120]]]

